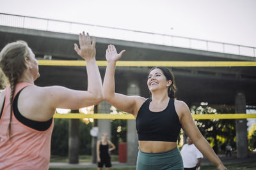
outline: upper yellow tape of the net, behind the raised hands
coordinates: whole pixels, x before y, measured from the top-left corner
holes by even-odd
[[[84,60],[38,60],[40,66],[86,66]],[[98,66],[107,66],[104,60]],[[118,61],[122,67],[255,67],[255,61]]]

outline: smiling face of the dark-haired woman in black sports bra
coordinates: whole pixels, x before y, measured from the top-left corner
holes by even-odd
[[[148,89],[150,92],[154,92],[155,90],[166,90],[172,84],[171,80],[166,80],[166,77],[163,74],[161,69],[153,69],[148,74]]]

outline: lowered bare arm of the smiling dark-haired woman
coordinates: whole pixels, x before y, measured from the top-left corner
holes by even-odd
[[[211,145],[209,145],[208,141],[204,138],[204,136],[202,136],[198,127],[196,127],[188,105],[182,101],[175,100],[175,109],[180,117],[182,129],[184,132],[186,132],[189,138],[192,139],[196,148],[198,148],[198,150],[200,150],[200,152],[202,152],[205,157],[207,157],[212,164],[218,168],[218,170],[227,169],[225,166],[223,166],[221,160],[216,155]]]

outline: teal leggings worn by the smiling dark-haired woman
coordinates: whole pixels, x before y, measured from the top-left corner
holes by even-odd
[[[139,149],[137,170],[184,170],[179,149],[160,153],[146,153]]]

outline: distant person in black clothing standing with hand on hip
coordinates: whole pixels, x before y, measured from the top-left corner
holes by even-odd
[[[111,146],[111,148],[109,148]],[[109,152],[115,150],[116,146],[108,140],[108,133],[103,133],[101,140],[97,141],[97,159],[98,159],[98,170],[101,170],[105,165],[106,170],[112,167],[111,157]]]

